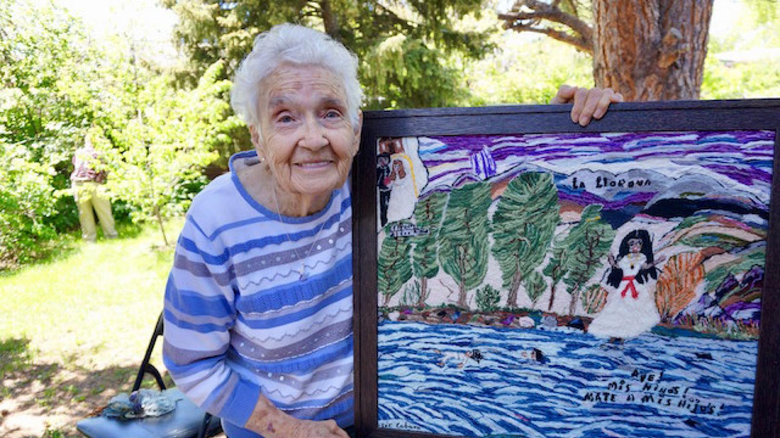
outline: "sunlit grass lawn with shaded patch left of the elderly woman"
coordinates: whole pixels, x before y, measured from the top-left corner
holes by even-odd
[[[182,224],[166,227],[171,242]],[[119,234],[63,236],[51,260],[0,274],[0,436],[77,436],[76,421],[129,391],[173,249],[153,226]]]

